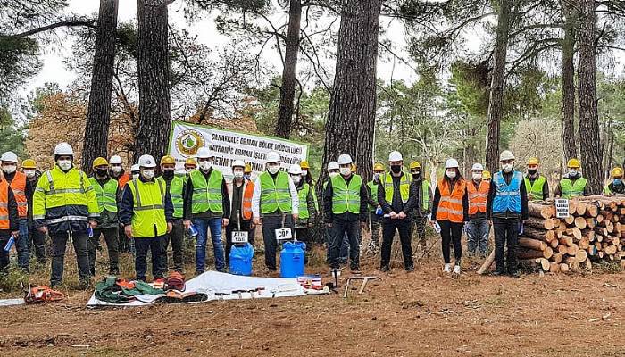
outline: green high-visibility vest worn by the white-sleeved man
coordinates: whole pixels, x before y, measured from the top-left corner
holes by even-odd
[[[288,181],[288,174],[279,171],[276,179],[271,177],[269,172],[262,172],[261,181],[261,213],[270,214],[280,210],[281,212],[291,212],[291,189]]]

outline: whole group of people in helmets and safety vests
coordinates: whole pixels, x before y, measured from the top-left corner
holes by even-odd
[[[96,275],[101,237],[108,251],[109,274],[119,274],[119,253],[128,250],[135,254],[138,280],[146,280],[148,253],[152,276],[161,279],[170,268],[170,245],[173,270],[183,273],[185,237],[195,237],[196,274],[201,274],[206,269],[210,230],[215,269],[227,271],[233,233],[247,232],[249,243],[254,245],[257,226],[262,226],[265,273],[271,274],[277,270],[276,231],[291,228],[293,237],[310,246],[312,224],[321,212],[331,270],[348,262],[352,273],[360,273],[362,231],[371,230],[371,248],[377,251],[381,246],[380,270],[390,270],[391,248],[397,234],[404,269],[412,271],[412,236],[427,253],[425,229],[431,224],[440,230],[446,273],[461,273],[462,232],[468,238],[469,252],[485,255],[492,227],[495,274],[518,276],[515,246],[522,222],[528,218],[528,202],[549,196],[546,178],[538,173],[538,159],[529,159],[524,175],[514,170],[515,157],[508,150],[500,155],[501,170],[492,176],[476,163],[471,168],[471,179],[464,179],[458,162],[447,160],[445,174],[433,193],[421,164],[411,162],[405,170],[399,152],[388,155],[388,171],[376,163],[368,182],[355,172],[350,155],[341,154],[337,162],[328,164],[329,179],[321,186],[321,200],[315,192],[309,163],[303,161],[290,165],[287,171],[280,170],[282,160],[276,152],[266,154],[266,170],[255,180],[251,178],[251,167],[240,160],[232,162],[233,178],[226,179],[212,166],[212,153],[207,147],[199,148],[195,159],[187,159],[184,171],[176,170],[176,161],[169,155],[156,162],[146,154],[126,173],[121,157],[116,155],[108,161],[96,158],[94,176],[88,178],[76,169],[73,160],[71,145],[66,143],[56,145],[54,168],[44,173],[32,160],[25,160],[21,171],[17,170],[18,157],[12,152],[0,158],[0,245],[4,247],[11,237],[16,238],[18,264],[28,271],[30,252],[37,261],[46,261],[45,237],[49,235],[52,286],[63,282],[68,241],[76,252],[79,279],[87,286]],[[579,168],[579,160],[568,162],[568,172],[556,187],[555,196],[586,195],[587,179]],[[623,170],[613,169],[612,177],[604,193],[625,193]],[[4,269],[9,256],[4,249],[0,251],[0,269]]]

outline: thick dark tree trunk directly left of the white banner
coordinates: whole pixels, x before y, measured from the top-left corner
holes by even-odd
[[[164,0],[137,0],[139,120],[134,162],[142,154],[156,160],[167,151],[170,85],[167,6]]]

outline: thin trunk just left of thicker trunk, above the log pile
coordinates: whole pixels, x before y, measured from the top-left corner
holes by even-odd
[[[562,0],[564,40],[562,41],[562,149],[564,160],[578,157],[575,145],[575,27],[577,12]]]

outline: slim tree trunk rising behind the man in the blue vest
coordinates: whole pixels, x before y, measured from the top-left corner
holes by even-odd
[[[508,37],[510,37],[510,1],[502,0],[499,5],[486,141],[487,170],[492,172],[499,167],[499,131],[504,117],[505,59],[508,54]]]

